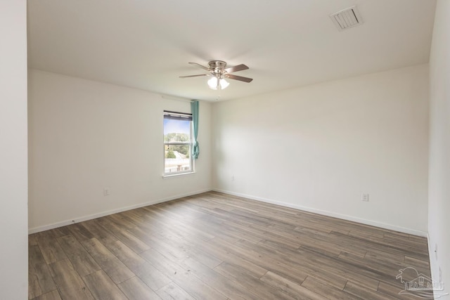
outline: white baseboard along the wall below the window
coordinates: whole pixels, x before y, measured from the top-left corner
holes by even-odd
[[[82,222],[82,221],[88,221],[88,220],[92,220],[92,219],[97,219],[97,218],[100,218],[102,216],[108,216],[110,214],[117,214],[119,212],[127,211],[127,210],[130,210],[130,209],[137,209],[139,207],[147,207],[148,205],[153,205],[153,204],[158,204],[158,203],[162,203],[162,202],[167,202],[167,201],[170,201],[170,200],[176,200],[176,199],[179,199],[179,198],[182,198],[182,197],[188,197],[188,196],[192,196],[192,195],[197,195],[197,194],[209,192],[210,190],[211,189],[205,189],[205,190],[198,190],[196,192],[187,193],[187,194],[183,194],[183,195],[174,195],[174,196],[167,197],[167,198],[162,198],[162,199],[159,199],[159,200],[153,200],[153,201],[150,201],[150,202],[144,202],[144,203],[131,205],[129,207],[121,207],[121,208],[118,208],[118,209],[111,209],[109,211],[102,211],[102,212],[100,212],[98,214],[91,214],[89,216],[81,216],[81,217],[78,217],[78,218],[75,218],[75,219],[70,219],[70,220],[66,220],[66,221],[60,221],[60,222],[52,223],[52,224],[45,225],[45,226],[38,226],[38,227],[34,227],[34,228],[29,228],[28,229],[28,234],[30,235],[32,233],[39,233],[39,232],[44,231],[44,230],[50,230],[50,229],[53,229],[53,228],[67,226],[67,225],[79,223],[79,222]]]

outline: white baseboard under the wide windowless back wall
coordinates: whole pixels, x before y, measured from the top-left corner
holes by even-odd
[[[311,207],[304,207],[302,205],[292,204],[292,203],[288,203],[288,202],[281,202],[281,201],[266,199],[266,198],[247,195],[247,194],[234,193],[229,190],[221,190],[221,189],[217,189],[217,188],[214,188],[213,190],[216,192],[219,192],[219,193],[229,194],[229,195],[238,196],[238,197],[244,197],[244,198],[248,198],[251,200],[257,200],[257,201],[271,203],[271,204],[277,204],[277,205],[281,205],[283,207],[290,207],[293,209],[300,209],[302,211],[309,211],[314,214],[321,214],[323,216],[332,216],[333,218],[338,218],[338,219],[353,221],[353,222],[362,223],[362,224],[366,224],[366,225],[370,225],[370,226],[380,227],[380,228],[384,228],[384,229],[399,231],[401,233],[408,233],[410,235],[418,235],[420,237],[428,237],[428,233],[425,233],[420,230],[411,229],[411,228],[404,228],[401,226],[396,226],[396,225],[392,225],[392,224],[388,224],[388,223],[382,223],[382,222],[378,222],[378,221],[361,219],[356,216],[348,216],[345,214],[336,214],[332,211],[325,211],[325,210],[321,210],[321,209],[314,209]]]

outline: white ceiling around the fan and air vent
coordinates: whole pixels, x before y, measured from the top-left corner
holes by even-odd
[[[364,24],[328,15],[356,5]],[[29,0],[29,67],[200,100],[228,100],[428,63],[434,0]],[[250,70],[223,91],[188,62]]]

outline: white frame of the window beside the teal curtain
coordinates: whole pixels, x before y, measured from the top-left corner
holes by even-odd
[[[181,142],[181,141],[172,141],[172,142],[166,142],[165,141],[165,133],[164,133],[164,120],[165,119],[178,119],[181,121],[189,121],[189,141]],[[195,173],[195,167],[194,167],[194,159],[192,157],[192,147],[193,147],[193,120],[192,120],[192,114],[187,112],[173,112],[169,110],[164,110],[163,115],[163,124],[162,124],[162,143],[163,143],[163,151],[162,151],[162,157],[163,157],[163,177],[171,177],[171,176],[178,176],[178,175],[184,175],[184,174],[192,174]],[[189,153],[189,169],[188,170],[176,170],[176,171],[166,171],[166,148],[170,145],[188,145],[188,153]]]

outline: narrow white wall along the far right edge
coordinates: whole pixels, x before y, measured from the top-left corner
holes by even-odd
[[[428,226],[433,280],[450,292],[450,1],[437,1],[430,53]],[[437,256],[435,247],[437,245]]]

